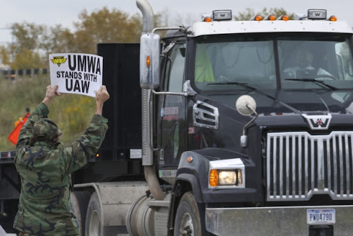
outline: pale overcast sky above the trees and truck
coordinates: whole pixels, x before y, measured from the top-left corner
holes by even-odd
[[[284,8],[287,12],[306,14],[307,9],[326,9],[339,20],[353,27],[353,0],[148,0],[154,14],[167,12],[172,23],[188,25],[201,19],[201,14],[211,14],[212,10],[232,10],[233,15],[252,8],[255,12],[263,8]],[[88,13],[103,7],[116,8],[130,15],[139,13],[135,0],[0,0],[0,44],[12,41],[10,26],[12,23],[45,24],[73,28],[73,22],[79,21],[79,14],[85,9]],[[180,19],[180,22],[179,20]],[[177,22],[178,21],[178,22]]]

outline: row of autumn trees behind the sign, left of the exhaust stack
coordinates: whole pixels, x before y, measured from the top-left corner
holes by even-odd
[[[159,26],[161,14],[154,17]],[[117,9],[83,10],[74,30],[57,25],[48,28],[34,23],[14,23],[13,42],[0,46],[0,59],[13,69],[48,67],[48,54],[78,52],[95,54],[97,43],[137,43],[141,37],[142,17]]]

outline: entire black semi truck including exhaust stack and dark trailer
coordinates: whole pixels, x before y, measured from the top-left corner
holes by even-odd
[[[137,5],[141,43],[97,46],[110,128],[72,176],[82,234],[351,235],[352,27],[312,9],[154,28]]]

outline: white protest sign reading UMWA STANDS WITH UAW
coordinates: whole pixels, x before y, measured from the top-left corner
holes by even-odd
[[[57,53],[49,55],[51,86],[57,92],[96,97],[102,86],[103,57],[83,53]]]

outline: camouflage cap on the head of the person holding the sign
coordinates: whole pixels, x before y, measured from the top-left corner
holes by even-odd
[[[54,140],[63,132],[59,130],[57,124],[48,118],[43,118],[34,123],[32,139],[34,140]]]

